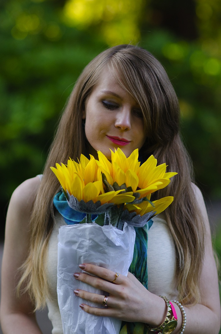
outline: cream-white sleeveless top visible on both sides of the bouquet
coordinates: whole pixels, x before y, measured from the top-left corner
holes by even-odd
[[[57,301],[57,244],[58,229],[66,225],[63,217],[56,212],[56,225],[53,228],[47,254],[47,277],[50,286],[51,301],[47,302],[48,317],[52,322],[52,334],[63,334],[61,316]],[[155,295],[176,300],[177,280],[175,275],[176,254],[174,241],[163,214],[153,218],[148,232],[148,290]]]

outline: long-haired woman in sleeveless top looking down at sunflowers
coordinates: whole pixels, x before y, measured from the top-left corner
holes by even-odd
[[[110,296],[76,290],[85,303],[80,307],[98,316],[136,323],[134,333],[159,332],[168,310],[165,300],[182,302],[186,312],[171,302],[177,327],[167,333],[218,334],[220,301],[210,227],[200,190],[191,183],[188,155],[179,136],[178,100],[162,65],[146,50],[132,45],[112,47],[93,59],[80,75],[60,120],[44,169],[26,180],[13,193],[7,214],[2,264],[1,324],[3,333],[40,333],[34,310],[47,303],[53,333],[62,334],[56,301],[56,247],[62,217],[53,208],[59,191],[50,170],[101,150],[120,147],[126,156],[138,148],[140,159],[150,154],[167,171],[176,171],[170,185],[156,197],[174,196],[164,215],[154,218],[148,236],[149,290],[130,273],[116,273],[90,264],[80,269],[99,278],[73,273],[107,291]],[[22,270],[18,271],[19,268]],[[20,291],[16,294],[16,288]],[[87,301],[108,308],[92,308]],[[176,318],[176,317],[175,317]],[[142,323],[140,325],[137,323]],[[130,326],[125,325],[125,328]],[[158,328],[158,329],[157,329]]]

